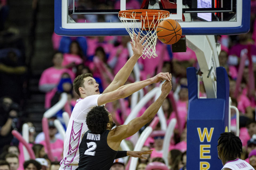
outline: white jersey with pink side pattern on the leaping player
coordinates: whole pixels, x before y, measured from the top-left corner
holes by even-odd
[[[94,107],[98,106],[98,97],[100,95],[91,95],[84,99],[78,99],[71,114],[67,131],[64,138],[64,151],[61,167],[68,164],[78,164],[79,150],[83,132],[88,128],[86,125],[87,113]]]

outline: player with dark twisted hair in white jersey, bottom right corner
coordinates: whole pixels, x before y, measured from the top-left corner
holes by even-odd
[[[241,160],[242,142],[234,133],[224,132],[218,139],[218,158],[221,170],[255,170],[249,163]]]

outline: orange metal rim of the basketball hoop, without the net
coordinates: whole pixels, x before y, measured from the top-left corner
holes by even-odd
[[[165,16],[167,14],[166,17],[169,17],[170,12],[169,11],[165,11],[165,10],[143,10],[143,9],[139,9],[139,10],[124,10],[124,11],[119,11],[118,12],[118,16],[120,17],[125,17],[125,18],[129,18],[129,19],[141,19],[141,16],[145,17],[147,16],[149,20],[153,20],[153,19],[158,19],[158,15],[160,13],[160,16]],[[131,15],[133,15],[133,18],[131,18]]]

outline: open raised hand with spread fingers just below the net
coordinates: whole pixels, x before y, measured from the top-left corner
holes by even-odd
[[[147,42],[144,43],[146,36],[144,36],[143,39],[140,41],[139,40],[139,38],[141,36],[140,32],[138,33],[138,36],[136,36],[135,33],[133,33],[133,35],[134,35],[134,44],[133,44],[133,42],[130,42],[131,49],[133,50],[134,56],[139,58],[142,55],[145,45],[147,44]]]

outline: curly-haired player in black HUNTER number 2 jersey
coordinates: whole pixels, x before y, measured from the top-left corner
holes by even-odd
[[[78,170],[109,170],[114,159],[129,156],[126,151],[117,155],[121,141],[135,134],[155,116],[171,88],[171,81],[163,83],[161,95],[146,109],[142,116],[113,130],[111,129],[115,123],[111,114],[103,106],[92,108],[86,117],[89,130],[83,135],[79,146]]]

